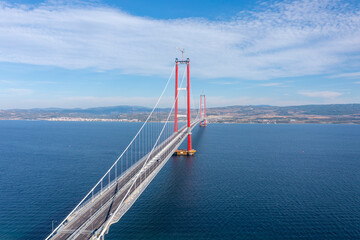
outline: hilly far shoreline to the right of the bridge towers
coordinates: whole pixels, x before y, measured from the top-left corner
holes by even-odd
[[[228,106],[209,108],[210,122],[360,124],[360,104]]]

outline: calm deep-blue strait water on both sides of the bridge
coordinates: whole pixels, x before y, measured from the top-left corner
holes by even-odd
[[[0,239],[45,238],[139,126],[0,121]],[[106,239],[360,239],[360,126],[212,124],[193,143]]]

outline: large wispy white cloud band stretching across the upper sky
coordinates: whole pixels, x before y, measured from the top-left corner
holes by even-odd
[[[271,79],[342,72],[360,55],[357,6],[302,0],[265,9],[230,21],[156,20],[93,5],[0,3],[0,61],[168,75],[179,46],[193,76]]]

